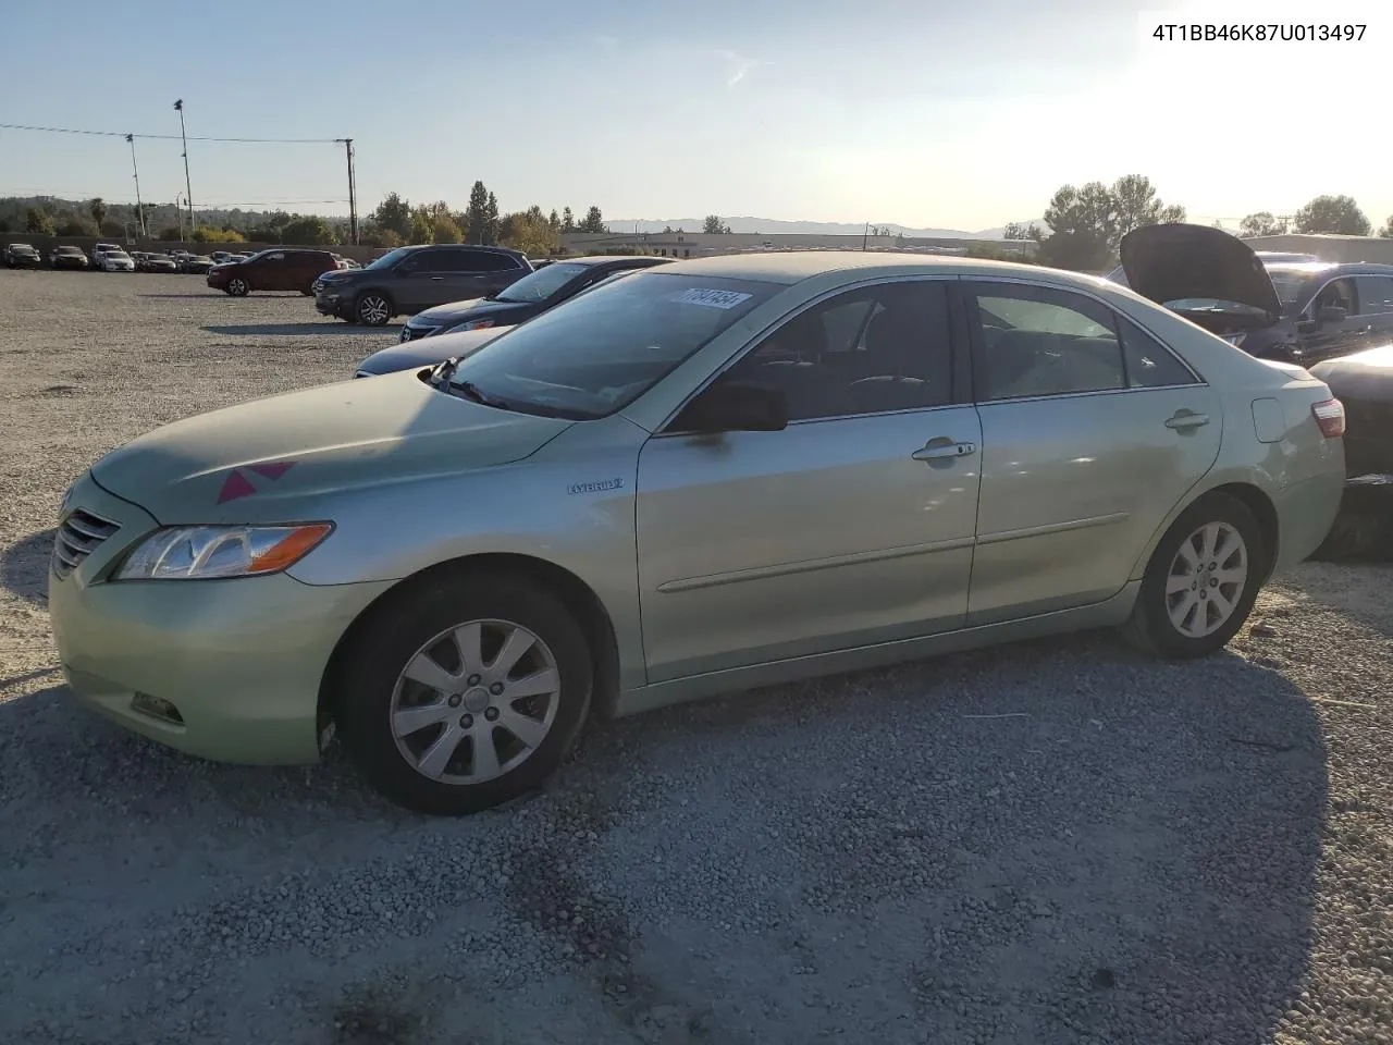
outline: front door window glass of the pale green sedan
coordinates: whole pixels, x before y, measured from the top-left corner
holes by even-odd
[[[783,392],[790,421],[942,407],[953,398],[947,286],[882,283],[800,312],[722,375]]]

